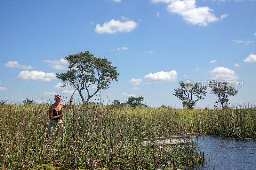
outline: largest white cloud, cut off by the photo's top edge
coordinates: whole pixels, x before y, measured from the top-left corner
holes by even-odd
[[[167,3],[167,10],[183,17],[187,23],[207,26],[208,23],[219,21],[212,9],[207,6],[197,7],[195,0],[151,0],[152,3]]]

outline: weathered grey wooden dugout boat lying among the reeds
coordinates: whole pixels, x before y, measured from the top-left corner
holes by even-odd
[[[193,142],[198,136],[154,137],[141,139],[142,146],[187,144]]]

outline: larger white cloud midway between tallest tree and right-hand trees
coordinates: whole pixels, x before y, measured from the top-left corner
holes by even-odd
[[[147,82],[169,82],[169,81],[175,81],[177,78],[177,71],[172,70],[170,72],[156,72],[154,74],[149,73],[144,77],[144,80]]]

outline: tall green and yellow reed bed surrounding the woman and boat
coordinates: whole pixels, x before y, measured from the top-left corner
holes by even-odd
[[[47,136],[49,105],[0,106],[0,168],[183,169],[201,165],[195,145],[142,147],[148,137],[212,134],[256,139],[255,108],[182,110],[74,105],[66,135]]]

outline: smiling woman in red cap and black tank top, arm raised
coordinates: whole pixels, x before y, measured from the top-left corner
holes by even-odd
[[[65,125],[62,120],[62,116],[64,116],[62,108],[71,109],[73,97],[74,97],[74,95],[71,96],[70,105],[67,106],[63,103],[60,103],[60,101],[61,101],[60,95],[58,95],[58,94],[55,95],[55,98],[54,98],[55,103],[50,106],[50,111],[49,111],[50,122],[47,127],[49,136],[54,135],[54,131],[56,130],[56,128],[60,129],[62,134],[64,134],[64,135],[66,134]]]

